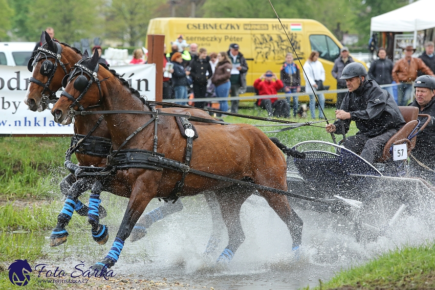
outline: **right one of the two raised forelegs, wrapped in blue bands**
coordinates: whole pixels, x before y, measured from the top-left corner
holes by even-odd
[[[105,244],[108,239],[108,230],[106,225],[100,225],[99,206],[101,203],[100,193],[102,184],[97,180],[91,189],[89,197],[88,221],[92,226],[92,238],[98,244]]]

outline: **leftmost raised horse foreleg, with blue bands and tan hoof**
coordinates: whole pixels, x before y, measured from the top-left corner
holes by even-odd
[[[65,199],[63,208],[57,216],[57,225],[53,229],[50,235],[50,246],[56,247],[67,241],[68,232],[65,227],[71,220],[73,216],[74,208],[76,207],[78,197],[90,189],[92,185],[92,180],[90,179],[79,179],[70,188],[70,191]]]

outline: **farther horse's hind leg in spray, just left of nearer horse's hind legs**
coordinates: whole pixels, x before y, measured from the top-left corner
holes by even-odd
[[[217,202],[216,195],[212,191],[207,191],[204,193],[207,205],[210,208],[212,231],[211,236],[207,242],[207,246],[204,251],[204,255],[209,255],[213,253],[219,243],[221,242],[222,236],[222,212],[219,203]]]

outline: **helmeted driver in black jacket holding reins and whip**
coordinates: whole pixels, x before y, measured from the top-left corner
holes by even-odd
[[[358,132],[345,138],[343,146],[374,164],[382,156],[385,144],[405,124],[393,97],[374,80],[367,80],[367,71],[359,62],[347,64],[340,79],[347,89],[340,109],[335,111],[334,124],[327,124],[328,133],[347,133],[351,121]]]

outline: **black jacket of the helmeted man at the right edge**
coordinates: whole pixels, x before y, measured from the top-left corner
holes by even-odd
[[[416,147],[412,150],[412,155],[429,167],[435,167],[435,98],[432,98],[423,109],[417,101],[409,105],[418,107],[419,114],[427,114],[432,117],[426,128],[417,135]],[[420,126],[422,126],[427,118],[419,117],[419,120],[421,121]]]

